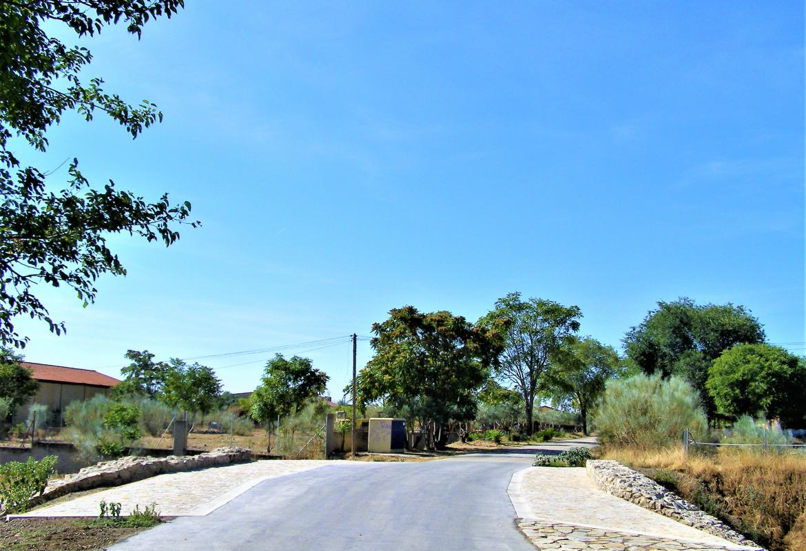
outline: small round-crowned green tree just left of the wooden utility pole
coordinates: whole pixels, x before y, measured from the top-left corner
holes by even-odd
[[[325,392],[330,377],[314,369],[308,358],[285,359],[276,354],[268,361],[260,387],[251,393],[248,412],[252,420],[266,427],[266,451],[271,425],[278,416],[285,417],[305,406],[305,402]]]

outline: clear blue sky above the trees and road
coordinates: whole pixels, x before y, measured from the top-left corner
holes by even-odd
[[[188,2],[88,40],[87,76],[164,123],[66,118],[31,159],[204,226],[114,238],[129,276],[87,309],[39,289],[68,334],[19,321],[27,359],[118,375],[130,348],[368,335],[408,304],[475,321],[512,291],[617,347],[657,300],[730,301],[804,353],[802,2],[439,4]],[[241,392],[270,355],[203,362]],[[341,396],[347,339],[304,355]]]

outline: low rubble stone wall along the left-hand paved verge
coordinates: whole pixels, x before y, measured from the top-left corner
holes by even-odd
[[[76,474],[68,474],[52,480],[42,495],[31,500],[31,505],[56,499],[74,491],[97,487],[120,486],[150,478],[157,474],[176,473],[183,470],[203,469],[211,466],[243,463],[251,459],[251,451],[243,448],[218,448],[206,454],[185,455],[167,458],[125,457],[84,467]]]

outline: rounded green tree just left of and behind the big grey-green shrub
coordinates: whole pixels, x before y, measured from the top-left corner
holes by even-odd
[[[555,358],[555,365],[546,374],[546,390],[555,407],[571,406],[580,412],[587,436],[588,413],[605,392],[605,383],[623,374],[625,367],[612,346],[590,337],[572,338]]]

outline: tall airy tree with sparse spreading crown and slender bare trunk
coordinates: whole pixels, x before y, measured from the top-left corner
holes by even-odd
[[[580,329],[582,312],[578,306],[563,306],[553,300],[530,298],[510,292],[496,300],[495,308],[482,317],[480,325],[492,327],[509,320],[505,347],[496,375],[513,384],[523,399],[526,430],[534,429],[534,398],[542,375],[551,365],[551,357],[571,335]]]

